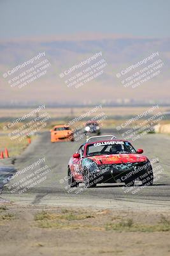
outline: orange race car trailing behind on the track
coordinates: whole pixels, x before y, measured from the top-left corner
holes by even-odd
[[[73,131],[67,125],[55,125],[51,132],[51,141],[74,141]]]

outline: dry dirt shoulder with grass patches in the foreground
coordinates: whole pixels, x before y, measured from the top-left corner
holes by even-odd
[[[168,212],[0,205],[0,255],[169,255]],[[10,244],[10,246],[9,246]]]

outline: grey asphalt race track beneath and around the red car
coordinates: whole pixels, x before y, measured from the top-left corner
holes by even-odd
[[[114,134],[120,138],[120,134],[108,129],[103,134]],[[69,158],[85,140],[74,142],[50,142],[50,132],[43,132],[37,140],[34,140],[25,152],[15,161],[15,168],[22,170],[38,159],[45,157],[46,164],[51,171],[46,174],[46,179],[25,193],[10,192],[8,186],[21,179],[20,175],[4,186],[1,198],[11,200],[17,204],[33,205],[58,205],[70,207],[101,207],[118,209],[169,209],[170,195],[170,136],[162,134],[147,134],[132,143],[135,148],[143,148],[144,155],[150,159],[159,158],[159,163],[154,163],[153,168],[161,166],[162,173],[153,183],[153,186],[141,188],[132,195],[131,191],[125,193],[122,184],[98,184],[97,188],[80,187],[69,191],[67,188],[67,163]],[[32,170],[27,171],[27,175]],[[154,173],[155,174],[155,173]],[[24,174],[25,175],[25,174]],[[23,176],[22,176],[23,177]],[[134,189],[133,188],[133,189]]]

